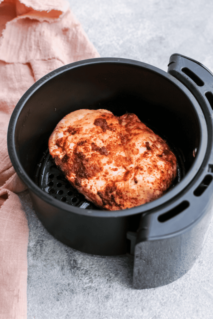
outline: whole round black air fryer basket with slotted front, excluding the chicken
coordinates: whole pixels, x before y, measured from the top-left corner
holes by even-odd
[[[42,224],[82,252],[134,255],[134,288],[163,286],[185,274],[212,219],[212,92],[213,74],[180,54],[170,57],[168,73],[134,60],[96,58],[37,81],[13,111],[8,150]],[[48,152],[56,124],[80,108],[135,113],[175,153],[172,187],[151,203],[121,211],[102,211],[85,200]]]

